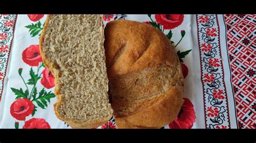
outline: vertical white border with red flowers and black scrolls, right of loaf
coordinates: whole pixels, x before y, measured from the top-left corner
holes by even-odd
[[[230,128],[217,15],[197,15],[205,127]]]

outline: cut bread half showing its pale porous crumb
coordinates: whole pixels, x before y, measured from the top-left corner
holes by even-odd
[[[112,117],[101,15],[50,15],[40,38],[45,66],[55,76],[55,114],[74,128]]]

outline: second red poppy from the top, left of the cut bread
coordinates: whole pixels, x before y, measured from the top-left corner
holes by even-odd
[[[22,52],[22,60],[29,66],[38,66],[42,62],[39,45],[30,45]]]

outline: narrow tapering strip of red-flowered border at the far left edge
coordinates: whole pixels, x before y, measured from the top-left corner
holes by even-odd
[[[11,52],[16,15],[0,15],[0,101],[3,94],[4,77]]]

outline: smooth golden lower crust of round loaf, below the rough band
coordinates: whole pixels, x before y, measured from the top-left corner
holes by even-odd
[[[183,104],[183,100],[176,95],[182,92],[183,88],[174,87],[160,96],[156,103],[140,110],[130,116],[116,117],[118,128],[160,128],[170,124],[175,119]],[[160,127],[159,127],[160,126]]]

